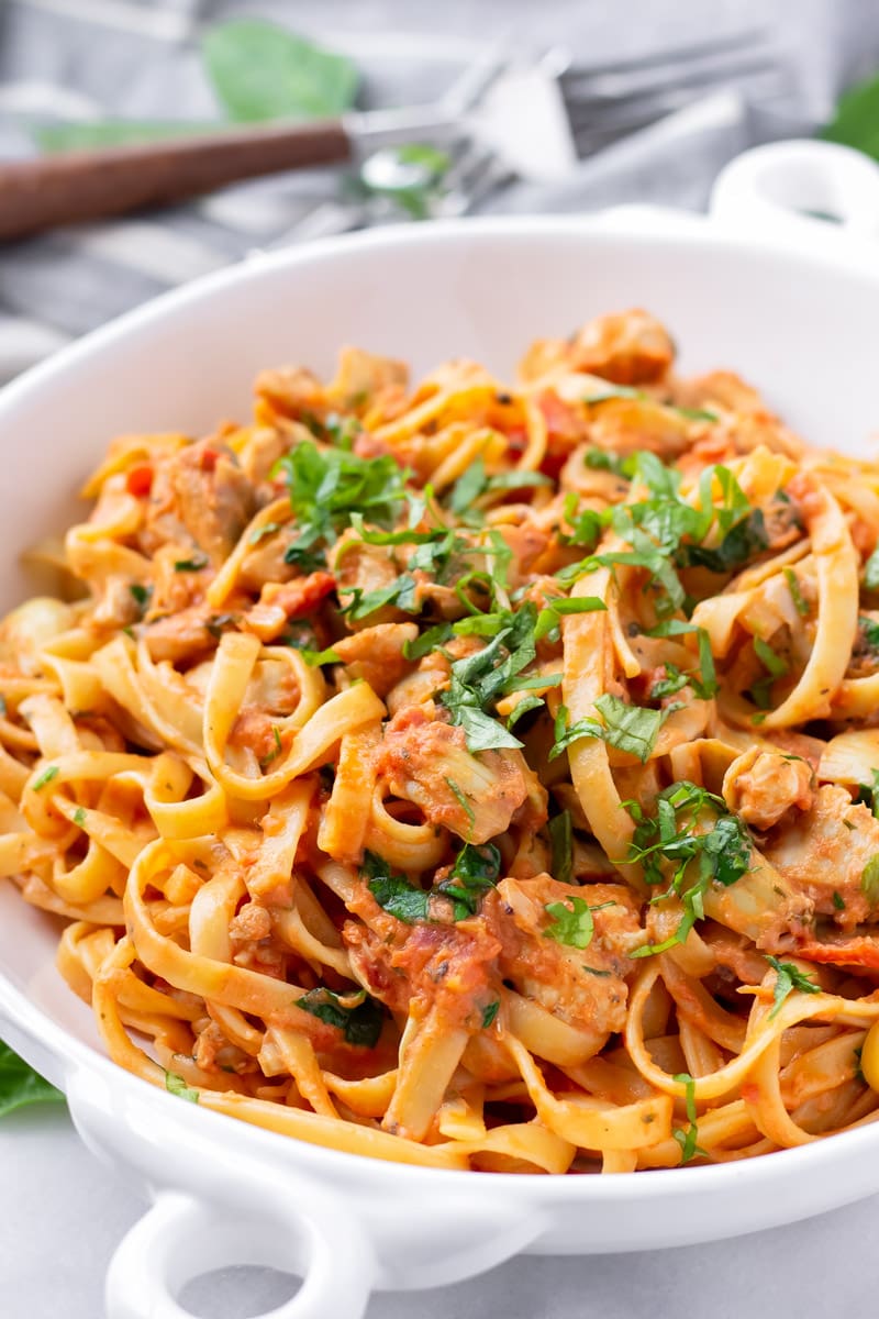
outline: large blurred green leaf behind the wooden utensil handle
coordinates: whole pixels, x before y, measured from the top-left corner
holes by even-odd
[[[235,120],[332,119],[348,109],[358,74],[332,54],[264,18],[233,18],[204,34],[206,73]]]

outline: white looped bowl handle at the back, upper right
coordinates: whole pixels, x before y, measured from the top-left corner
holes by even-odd
[[[850,146],[755,146],[721,170],[710,212],[746,237],[825,252],[853,247],[879,259],[879,166]]]

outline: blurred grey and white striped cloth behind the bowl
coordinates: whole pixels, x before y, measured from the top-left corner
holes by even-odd
[[[30,125],[46,120],[215,117],[198,40],[232,15],[274,17],[345,49],[378,104],[441,90],[468,51],[498,30],[514,30],[535,53],[563,40],[579,58],[598,61],[768,25],[784,55],[784,79],[771,98],[756,82],[716,91],[580,162],[564,183],[513,183],[490,200],[502,211],[626,200],[697,208],[734,154],[810,131],[842,86],[879,65],[879,7],[863,0],[627,0],[625,8],[621,25],[615,5],[444,0],[441,33],[432,34],[440,25],[434,0],[0,0],[0,150],[33,152]],[[307,228],[316,207],[339,195],[339,171],[290,173],[0,248],[0,380],[167,288],[291,230],[295,237],[297,226]]]

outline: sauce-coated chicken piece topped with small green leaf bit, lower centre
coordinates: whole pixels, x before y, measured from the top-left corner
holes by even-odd
[[[594,933],[585,948],[560,943],[547,930],[555,918],[547,906],[588,902]],[[610,904],[605,906],[605,904]],[[568,1025],[608,1037],[626,1021],[626,977],[638,966],[631,959],[644,943],[639,904],[622,884],[572,888],[548,874],[532,880],[501,880],[485,898],[488,927],[501,943],[499,968],[519,993]]]

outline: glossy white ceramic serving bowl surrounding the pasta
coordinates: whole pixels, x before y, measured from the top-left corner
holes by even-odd
[[[879,182],[862,183],[879,215]],[[832,208],[821,197],[809,208]],[[720,200],[742,232],[644,211],[374,231],[237,266],[91,335],[0,397],[0,605],[28,590],[17,553],[71,520],[72,492],[115,433],[244,417],[261,367],[328,372],[341,343],[416,371],[469,355],[503,376],[530,339],[642,305],[672,328],[685,371],[733,367],[803,434],[857,451],[879,427],[879,260],[866,239],[858,249],[803,218],[762,241],[754,223],[780,218],[752,181],[727,179]],[[278,1319],[354,1319],[373,1287],[452,1282],[517,1250],[683,1245],[879,1188],[879,1126],[609,1178],[444,1173],[283,1140],[112,1066],[54,969],[57,935],[0,885],[0,1033],[66,1089],[87,1144],[156,1195],[111,1268],[111,1319],[183,1319],[173,1298],[187,1278],[246,1262],[306,1275]]]

